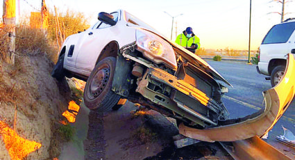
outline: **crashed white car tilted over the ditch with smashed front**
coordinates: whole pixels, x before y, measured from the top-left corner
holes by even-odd
[[[199,56],[125,10],[99,13],[98,19],[65,40],[52,72],[58,80],[87,81],[84,102],[89,109],[119,109],[128,99],[175,118],[181,134],[193,138],[197,136],[184,127],[199,131],[241,122],[226,121],[221,96],[230,83]]]

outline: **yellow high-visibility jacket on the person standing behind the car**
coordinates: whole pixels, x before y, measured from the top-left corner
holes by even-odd
[[[192,33],[191,38],[187,38],[184,33],[181,33],[180,35],[177,36],[175,42],[178,45],[181,45],[182,47],[191,47],[192,43],[198,45],[198,48],[200,48],[200,38],[198,38],[194,33]]]

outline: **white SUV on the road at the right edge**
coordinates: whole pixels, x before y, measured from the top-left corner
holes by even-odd
[[[283,79],[287,54],[295,54],[295,19],[273,26],[260,45],[258,73],[271,76],[271,86]],[[267,78],[269,79],[269,78]]]

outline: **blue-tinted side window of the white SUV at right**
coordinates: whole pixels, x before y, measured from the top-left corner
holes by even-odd
[[[294,32],[295,22],[278,24],[267,33],[262,44],[285,43]]]

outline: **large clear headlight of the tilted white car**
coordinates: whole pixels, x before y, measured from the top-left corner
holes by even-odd
[[[172,69],[177,69],[176,56],[171,45],[149,31],[136,31],[137,50],[154,63],[164,63]]]

